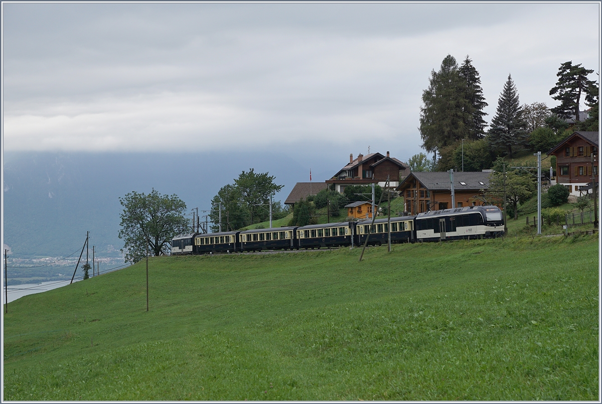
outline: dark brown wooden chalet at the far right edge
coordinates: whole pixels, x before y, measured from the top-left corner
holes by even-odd
[[[574,132],[546,153],[556,156],[556,183],[565,185],[571,195],[579,196],[592,179],[598,181],[599,138],[600,132]]]

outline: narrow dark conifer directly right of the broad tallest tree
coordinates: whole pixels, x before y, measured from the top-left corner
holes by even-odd
[[[470,110],[467,111],[471,115],[468,139],[476,140],[485,137],[485,126],[487,126],[487,123],[483,117],[487,114],[483,112],[483,108],[489,104],[485,102],[485,97],[483,97],[479,72],[477,72],[477,69],[474,68],[471,62],[472,60],[466,55],[464,63],[460,66],[459,74],[464,80],[464,97],[470,103]]]

